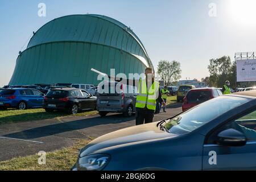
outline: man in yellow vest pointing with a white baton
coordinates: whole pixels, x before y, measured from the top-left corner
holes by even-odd
[[[139,80],[136,101],[136,125],[153,122],[157,100],[166,106],[159,88],[159,82],[154,80],[152,68],[146,68],[145,75],[146,78]]]

